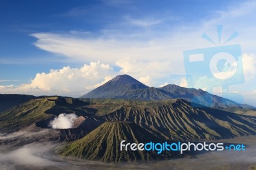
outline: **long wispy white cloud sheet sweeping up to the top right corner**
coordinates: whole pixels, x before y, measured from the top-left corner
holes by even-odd
[[[204,20],[200,25],[195,24],[195,26],[183,25],[170,28],[167,27],[170,24],[168,19],[134,19],[126,16],[125,20],[131,25],[150,27],[164,23],[166,27],[157,30],[134,29],[131,33],[125,29],[127,25],[123,25],[124,21],[122,21],[122,24],[116,24],[115,29],[102,29],[94,35],[88,35],[86,31],[85,34],[84,31],[72,31],[71,33],[34,33],[31,36],[37,39],[35,46],[39,49],[62,54],[79,61],[102,61],[115,65],[116,61],[129,58],[142,61],[172,61],[174,63],[178,61],[179,67],[182,67],[182,52],[187,49],[212,47],[211,43],[205,42],[200,37],[205,32],[215,39],[217,36],[215,26],[220,23],[225,23],[223,40],[227,39],[234,31],[238,31],[240,36],[232,43],[239,42],[244,50],[256,53],[253,47],[256,42],[256,37],[253,37],[256,34],[252,30],[256,26],[244,28],[244,26],[250,25],[250,20],[253,20],[255,12],[252,9],[255,8],[256,5],[252,3],[241,5],[236,9],[232,8],[229,12],[217,12],[212,19]],[[237,13],[242,11],[243,15],[234,15],[234,10]],[[237,25],[237,22],[244,24]],[[179,67],[177,66],[178,70],[184,71],[184,68]]]

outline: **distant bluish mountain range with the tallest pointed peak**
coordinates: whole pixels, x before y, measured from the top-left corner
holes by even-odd
[[[118,75],[80,98],[116,98],[146,101],[182,98],[191,103],[218,109],[227,107],[256,109],[251,105],[238,104],[227,98],[212,95],[202,89],[183,88],[175,84],[168,84],[161,88],[148,87],[129,75]]]

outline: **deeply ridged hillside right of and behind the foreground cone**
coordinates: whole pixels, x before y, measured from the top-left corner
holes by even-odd
[[[256,118],[211,108],[193,108],[173,99],[123,105],[100,117],[106,121],[131,121],[166,139],[223,139],[256,134]]]

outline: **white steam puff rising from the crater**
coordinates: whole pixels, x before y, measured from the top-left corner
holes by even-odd
[[[76,114],[61,113],[57,118],[50,122],[52,128],[73,128],[74,121],[77,119]]]

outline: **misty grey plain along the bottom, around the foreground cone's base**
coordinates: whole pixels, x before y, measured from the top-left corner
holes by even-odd
[[[246,150],[210,151],[195,157],[136,164],[107,164],[60,157],[54,149],[63,143],[32,143],[16,148],[3,144],[0,145],[0,169],[248,169],[256,166],[256,136],[224,141],[244,143]]]

